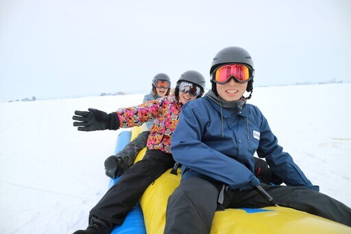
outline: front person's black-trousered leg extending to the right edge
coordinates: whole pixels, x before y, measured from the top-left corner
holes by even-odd
[[[351,209],[334,198],[306,187],[272,186],[264,183],[261,183],[261,186],[282,207],[305,211],[351,226]],[[258,195],[254,189],[235,190],[231,195],[230,204],[228,204],[228,207],[231,208],[267,206],[271,206],[271,204]]]

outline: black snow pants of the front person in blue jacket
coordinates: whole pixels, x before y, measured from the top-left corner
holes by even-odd
[[[281,207],[291,207],[351,226],[351,209],[345,204],[306,187],[266,185],[263,189]],[[165,233],[210,233],[221,185],[202,178],[187,178],[169,197]],[[256,190],[227,190],[223,208],[270,207]]]

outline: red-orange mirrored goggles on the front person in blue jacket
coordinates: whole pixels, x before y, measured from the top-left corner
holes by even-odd
[[[251,74],[250,74],[251,73]],[[254,77],[253,71],[245,65],[223,65],[213,72],[213,82],[226,84],[231,78],[241,84],[248,82]]]

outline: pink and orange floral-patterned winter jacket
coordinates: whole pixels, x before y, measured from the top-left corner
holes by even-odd
[[[171,136],[178,125],[181,108],[182,104],[175,96],[169,95],[138,106],[119,108],[116,113],[119,116],[120,128],[141,126],[149,120],[154,120],[147,139],[147,149],[171,153]]]

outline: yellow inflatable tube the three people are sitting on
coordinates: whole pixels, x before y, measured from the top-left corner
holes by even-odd
[[[132,139],[141,131],[132,128]],[[144,148],[135,161],[143,159]],[[170,174],[169,169],[143,194],[140,204],[143,210],[146,233],[163,233],[167,200],[180,183],[178,175]],[[125,222],[122,226],[125,225]],[[133,232],[132,232],[133,233]],[[226,209],[217,211],[213,219],[212,234],[218,233],[351,233],[351,228],[287,207],[265,207],[263,209]]]

